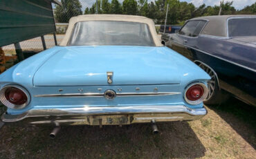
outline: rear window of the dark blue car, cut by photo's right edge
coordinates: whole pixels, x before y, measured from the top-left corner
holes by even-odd
[[[229,37],[256,36],[256,18],[237,18],[228,20]]]

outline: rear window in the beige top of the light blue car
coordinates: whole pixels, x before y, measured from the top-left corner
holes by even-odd
[[[149,26],[129,21],[81,21],[68,46],[155,46]]]

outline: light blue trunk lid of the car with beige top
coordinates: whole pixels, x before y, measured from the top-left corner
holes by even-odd
[[[67,46],[35,73],[35,86],[179,84],[179,68],[161,47]]]

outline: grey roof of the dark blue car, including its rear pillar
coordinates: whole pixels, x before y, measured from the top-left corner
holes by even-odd
[[[203,35],[212,35],[217,37],[228,37],[227,33],[227,21],[232,18],[249,18],[255,17],[255,15],[216,15],[216,16],[207,16],[207,17],[196,17],[192,20],[206,20],[208,24],[203,28],[201,34]]]

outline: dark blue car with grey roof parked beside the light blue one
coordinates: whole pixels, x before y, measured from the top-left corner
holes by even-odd
[[[167,46],[198,64],[211,77],[206,104],[219,104],[225,90],[256,106],[256,16],[223,15],[190,19]]]

